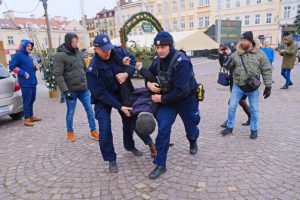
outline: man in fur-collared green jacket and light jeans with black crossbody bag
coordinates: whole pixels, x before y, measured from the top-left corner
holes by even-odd
[[[265,90],[264,98],[271,95],[272,68],[267,56],[260,50],[260,43],[253,39],[252,31],[242,34],[237,51],[231,54],[230,49],[226,50],[230,55],[231,62],[225,66],[233,70],[233,87],[228,108],[227,127],[221,132],[223,136],[231,134],[235,123],[236,108],[241,98],[246,95],[250,103],[250,129],[251,139],[257,138],[258,114],[259,114],[259,86],[262,75]],[[249,72],[251,72],[249,74]]]

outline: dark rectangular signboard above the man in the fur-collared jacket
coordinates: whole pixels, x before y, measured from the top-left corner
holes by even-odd
[[[239,20],[216,20],[215,34],[218,43],[228,45],[238,43],[241,37],[242,22]]]

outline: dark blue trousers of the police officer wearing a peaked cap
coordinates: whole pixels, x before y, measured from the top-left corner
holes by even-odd
[[[99,104],[95,105],[95,117],[99,123],[99,145],[104,161],[115,161],[117,159],[111,130],[111,110],[112,108],[109,106]],[[123,124],[123,145],[127,151],[130,151],[135,148],[135,143],[133,140],[134,120],[126,117],[121,112],[119,113]],[[139,134],[138,136],[145,144],[149,144],[152,141],[150,136]]]

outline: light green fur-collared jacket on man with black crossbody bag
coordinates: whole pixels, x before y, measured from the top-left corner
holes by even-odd
[[[233,82],[236,85],[243,86],[247,80],[247,73],[242,64],[241,56],[249,74],[262,75],[265,86],[272,85],[272,66],[266,54],[260,50],[259,41],[255,41],[255,46],[250,51],[244,51],[238,44],[237,51],[231,54],[232,61],[226,69],[233,71]]]

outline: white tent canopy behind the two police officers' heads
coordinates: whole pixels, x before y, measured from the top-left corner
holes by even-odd
[[[182,31],[171,32],[173,36],[175,47],[185,51],[196,51],[205,49],[217,49],[218,43],[208,37],[203,31]],[[153,44],[155,34],[132,35],[128,36],[127,45],[130,46],[134,41],[139,47],[151,47]],[[111,40],[115,45],[121,45],[120,38]]]

